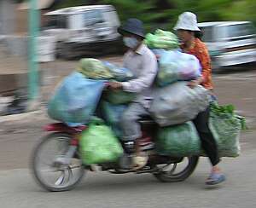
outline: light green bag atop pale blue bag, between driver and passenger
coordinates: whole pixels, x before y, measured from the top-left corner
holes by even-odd
[[[191,80],[201,75],[200,62],[194,55],[182,53],[178,39],[172,32],[156,30],[148,33],[145,41],[158,57],[159,72],[156,83],[162,87],[179,80]]]

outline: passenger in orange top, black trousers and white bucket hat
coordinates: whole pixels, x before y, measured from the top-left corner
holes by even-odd
[[[177,31],[177,36],[183,42],[181,45],[183,52],[195,55],[201,63],[201,77],[190,81],[189,86],[194,88],[196,85],[201,84],[203,87],[212,91],[211,60],[205,43],[201,42],[201,39],[198,37],[201,30],[197,26],[196,15],[191,12],[180,14],[174,30]],[[212,185],[224,182],[225,176],[218,167],[220,159],[218,157],[217,143],[208,126],[209,113],[210,110],[208,107],[206,111],[199,113],[193,122],[201,138],[201,145],[212,163],[212,171],[206,182]]]

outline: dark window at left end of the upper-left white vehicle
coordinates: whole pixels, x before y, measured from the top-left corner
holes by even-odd
[[[46,15],[44,29],[67,28],[67,15]]]

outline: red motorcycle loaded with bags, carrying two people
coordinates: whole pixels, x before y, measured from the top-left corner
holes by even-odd
[[[131,165],[131,158],[123,156],[119,161],[98,165],[86,165],[79,156],[79,135],[87,126],[69,127],[55,123],[44,127],[51,132],[38,142],[32,153],[32,173],[39,185],[48,191],[73,189],[87,171],[108,171],[112,174],[150,173],[160,182],[182,182],[195,170],[199,156],[175,158],[160,155],[154,147],[154,137],[158,125],[152,118],[140,121],[143,138],[140,146],[148,154],[148,164],[141,170],[124,169]]]

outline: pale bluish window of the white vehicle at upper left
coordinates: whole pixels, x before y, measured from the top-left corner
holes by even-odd
[[[102,23],[102,9],[94,9],[84,12],[84,26],[93,26],[96,23]]]

